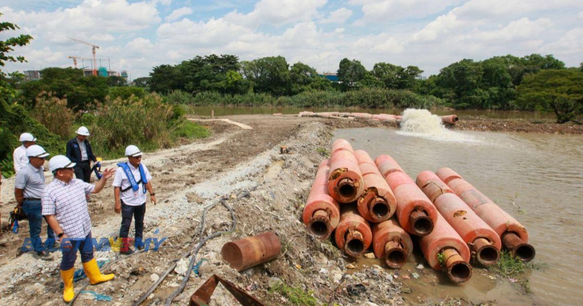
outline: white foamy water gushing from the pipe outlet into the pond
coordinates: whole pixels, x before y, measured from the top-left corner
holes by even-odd
[[[413,136],[447,142],[480,142],[480,140],[461,132],[445,128],[441,117],[428,110],[408,108],[403,111],[401,130],[396,132],[403,136]]]

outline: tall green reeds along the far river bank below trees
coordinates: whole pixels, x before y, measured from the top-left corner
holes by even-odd
[[[361,89],[350,92],[309,91],[295,96],[273,97],[265,93],[220,94],[216,92],[186,93],[175,90],[165,99],[169,103],[192,106],[290,106],[290,107],[362,107],[362,108],[437,108],[442,100],[409,90]]]

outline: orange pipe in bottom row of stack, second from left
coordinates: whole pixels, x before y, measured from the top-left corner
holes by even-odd
[[[343,205],[340,223],[334,232],[336,245],[347,255],[358,257],[370,247],[373,241],[370,225],[360,216],[355,205]]]

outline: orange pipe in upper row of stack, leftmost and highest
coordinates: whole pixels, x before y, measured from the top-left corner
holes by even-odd
[[[364,192],[363,177],[354,150],[344,139],[332,144],[328,192],[340,203],[356,201]]]

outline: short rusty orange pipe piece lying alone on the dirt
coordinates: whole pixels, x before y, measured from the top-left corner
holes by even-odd
[[[223,245],[221,255],[231,268],[241,272],[276,258],[282,251],[278,235],[266,232],[257,236],[230,241]]]

